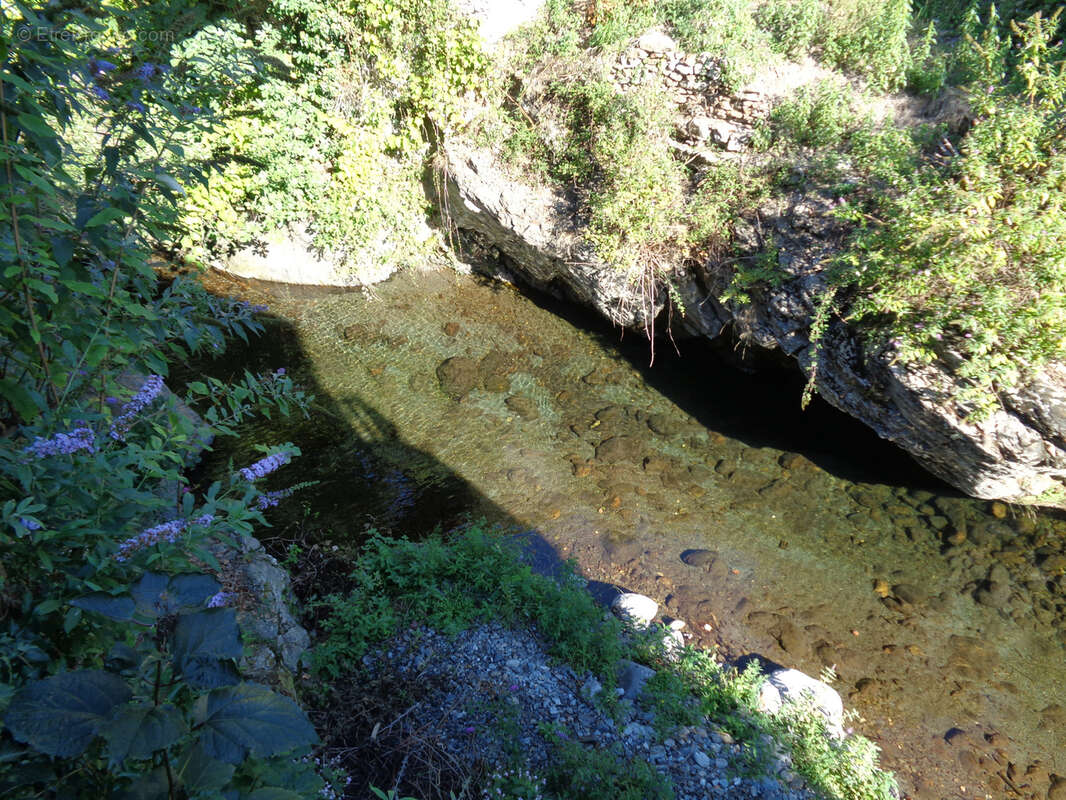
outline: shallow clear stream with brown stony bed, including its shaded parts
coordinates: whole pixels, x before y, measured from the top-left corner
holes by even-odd
[[[205,467],[298,445],[271,487],[319,483],[269,512],[282,539],[533,531],[694,643],[835,667],[911,797],[1044,798],[1066,774],[1061,515],[967,498],[817,398],[801,412],[794,370],[740,371],[695,341],[660,342],[649,368],[640,336],[505,284],[206,283],[270,306],[265,335],[209,369],[286,367],[318,398]]]

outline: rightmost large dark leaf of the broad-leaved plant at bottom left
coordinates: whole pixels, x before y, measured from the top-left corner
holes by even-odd
[[[196,701],[195,715],[204,750],[229,764],[318,741],[295,703],[258,684],[214,689]]]

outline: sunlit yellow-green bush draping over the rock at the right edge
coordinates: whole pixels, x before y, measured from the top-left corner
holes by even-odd
[[[1053,30],[1040,18],[1015,25],[1018,66],[974,95],[978,119],[957,157],[875,203],[875,224],[846,212],[858,227],[834,276],[859,291],[851,318],[898,357],[957,364],[969,383],[956,400],[976,415],[1021,370],[1064,354],[1066,80]]]

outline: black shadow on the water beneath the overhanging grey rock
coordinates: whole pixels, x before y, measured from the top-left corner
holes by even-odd
[[[612,326],[575,303],[519,286],[528,300],[594,335],[600,346],[625,358],[644,382],[708,430],[743,442],[797,452],[838,478],[853,483],[886,483],[927,489],[939,495],[963,495],[921,467],[904,450],[881,438],[868,426],[829,405],[817,395],[806,410],[800,399],[806,383],[791,359],[761,348],[743,352],[728,341],[678,339],[649,346],[640,333]],[[753,363],[756,369],[738,364]]]

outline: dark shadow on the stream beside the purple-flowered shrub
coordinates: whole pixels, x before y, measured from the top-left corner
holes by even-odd
[[[282,558],[286,545],[293,542],[352,545],[371,530],[419,540],[485,519],[514,539],[536,572],[553,577],[561,573],[560,554],[538,531],[521,526],[439,460],[404,442],[369,398],[328,394],[316,379],[296,330],[278,317],[261,321],[266,329],[262,336],[246,345],[233,341],[221,357],[191,365],[173,378],[180,383],[208,374],[231,382],[245,370],[285,367],[300,388],[314,397],[307,418],[298,413],[260,418],[243,426],[240,438],[216,439],[190,476],[194,487],[206,490],[260,458],[256,445],[296,445],[300,458],[264,481],[263,489],[313,485],[264,513],[272,529],[259,535],[273,555]],[[607,585],[598,588],[599,599],[610,601],[619,591]]]

